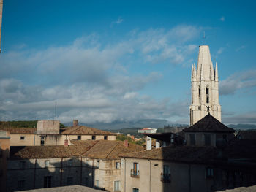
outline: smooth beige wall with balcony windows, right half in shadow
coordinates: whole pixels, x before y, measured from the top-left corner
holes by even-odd
[[[131,177],[133,163],[139,164],[140,176]],[[211,179],[206,179],[206,167],[202,165],[178,164],[159,160],[144,160],[136,158],[122,159],[122,183],[124,191],[138,188],[140,192],[197,192],[210,191]],[[163,166],[170,167],[170,182],[161,181]]]

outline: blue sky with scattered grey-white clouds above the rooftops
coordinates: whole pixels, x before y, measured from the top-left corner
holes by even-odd
[[[198,46],[223,123],[256,123],[255,1],[5,0],[0,120],[189,123]],[[206,38],[203,39],[205,33]]]

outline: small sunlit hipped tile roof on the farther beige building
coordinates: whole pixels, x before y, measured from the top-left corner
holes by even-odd
[[[91,128],[86,126],[76,126],[65,128],[61,134],[79,134],[79,135],[116,135],[110,131],[102,131],[97,128]]]

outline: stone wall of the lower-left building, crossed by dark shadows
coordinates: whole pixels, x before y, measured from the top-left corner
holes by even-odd
[[[49,166],[46,166],[46,161],[49,161]],[[84,157],[10,159],[7,165],[7,191],[44,188],[45,177],[51,177],[51,187],[84,185],[113,191],[113,182],[120,180],[121,175],[121,169],[114,166],[115,161],[120,160]],[[22,181],[23,188],[20,188],[19,183]]]

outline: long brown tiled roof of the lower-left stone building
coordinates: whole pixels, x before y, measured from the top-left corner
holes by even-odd
[[[70,146],[26,146],[10,147],[10,158],[62,158],[84,156],[89,158],[119,158],[121,153],[143,150],[143,147],[129,143],[124,147],[121,141],[78,141]]]

